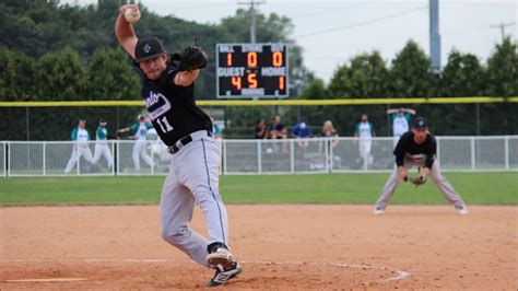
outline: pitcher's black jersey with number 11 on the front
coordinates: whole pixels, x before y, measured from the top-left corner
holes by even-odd
[[[144,75],[142,85],[153,127],[167,146],[195,131],[212,129],[210,117],[196,105],[193,83],[176,85],[176,73],[175,67],[168,66],[157,80]]]

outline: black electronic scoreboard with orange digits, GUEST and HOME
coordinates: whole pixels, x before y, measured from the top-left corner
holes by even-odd
[[[286,44],[217,44],[219,98],[289,96]]]

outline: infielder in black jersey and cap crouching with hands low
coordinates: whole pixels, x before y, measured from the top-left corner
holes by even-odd
[[[393,150],[396,165],[392,175],[385,183],[381,195],[376,201],[375,214],[382,214],[388,206],[396,187],[408,181],[408,171],[417,166],[420,178],[425,181],[428,176],[439,188],[440,193],[455,206],[460,214],[468,214],[468,209],[462,198],[457,194],[451,184],[440,174],[439,164],[435,160],[437,142],[428,131],[428,123],[423,117],[415,118],[412,129],[401,136]]]

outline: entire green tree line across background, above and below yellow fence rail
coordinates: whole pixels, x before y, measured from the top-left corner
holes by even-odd
[[[138,69],[119,48],[114,35],[119,5],[120,0],[98,0],[95,5],[86,7],[63,5],[58,0],[0,2],[0,101],[140,100]],[[248,42],[250,18],[249,11],[244,9],[216,24],[199,24],[175,15],[160,16],[144,4],[141,11],[137,34],[160,37],[168,51],[180,50],[197,40],[209,56],[214,56],[216,43]],[[337,67],[328,84],[304,66],[302,48],[293,39],[289,18],[259,13],[257,39],[290,45],[291,98],[518,95],[518,51],[509,37],[495,44],[485,63],[472,54],[450,51],[440,74],[432,73],[429,58],[416,43],[409,40],[390,62],[376,50],[354,56]],[[213,61],[197,81],[196,96],[214,98]],[[438,135],[518,133],[516,103],[411,107],[428,117]],[[342,136],[351,136],[360,115],[367,113],[378,135],[388,136],[387,108],[384,105],[228,107],[225,112],[231,123],[225,133],[243,136],[236,133],[239,128],[252,128],[258,117],[268,120],[280,113],[286,125],[304,119],[319,127],[330,119]],[[31,109],[32,114],[27,115],[23,108],[2,108],[0,113],[7,121],[0,124],[0,139],[25,139],[27,132],[12,130],[21,128],[21,120],[31,129],[31,139],[68,139],[79,116],[94,121],[116,114],[117,124],[128,124],[139,110],[56,108]]]

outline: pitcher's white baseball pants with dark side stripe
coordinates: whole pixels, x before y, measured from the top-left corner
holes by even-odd
[[[214,242],[228,245],[228,222],[220,196],[220,148],[208,132],[196,131],[192,141],[173,154],[161,198],[162,237],[195,261],[207,264],[207,246]],[[195,202],[205,217],[209,240],[189,229]]]

